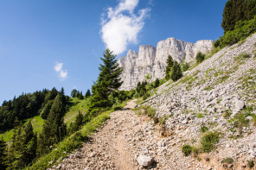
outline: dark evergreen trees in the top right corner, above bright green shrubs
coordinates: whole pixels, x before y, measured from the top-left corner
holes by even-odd
[[[235,29],[238,22],[251,20],[256,15],[256,2],[250,0],[228,0],[223,11],[221,27],[224,34]]]

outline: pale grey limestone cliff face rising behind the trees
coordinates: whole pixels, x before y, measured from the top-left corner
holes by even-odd
[[[124,68],[121,75],[124,83],[120,90],[134,89],[139,81],[144,81],[147,74],[152,76],[151,80],[163,79],[168,55],[178,62],[182,60],[193,62],[197,52],[208,53],[212,49],[212,43],[213,41],[189,43],[168,38],[165,41],[159,41],[157,48],[142,45],[138,53],[129,50],[126,57],[118,59],[119,66]]]

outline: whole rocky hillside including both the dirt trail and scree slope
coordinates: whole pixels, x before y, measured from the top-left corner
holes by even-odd
[[[250,169],[256,156],[255,44],[256,34],[225,47],[137,101],[134,111],[131,101],[112,112],[53,169]]]

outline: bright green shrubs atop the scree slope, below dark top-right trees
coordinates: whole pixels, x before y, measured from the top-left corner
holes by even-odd
[[[220,47],[233,45],[256,32],[256,16],[252,20],[236,22],[234,30],[227,31],[221,36]]]

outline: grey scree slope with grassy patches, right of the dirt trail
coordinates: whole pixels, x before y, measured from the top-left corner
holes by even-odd
[[[160,86],[157,94],[144,101],[143,105],[157,109],[159,119],[165,118],[165,129],[172,134],[168,140],[176,147],[167,148],[167,153],[173,153],[170,162],[179,159],[176,149],[182,152],[185,144],[202,148],[202,138],[210,132],[218,133],[220,141],[215,151],[202,154],[204,168],[221,169],[227,166],[221,161],[232,158],[230,166],[242,169],[247,161],[255,159],[255,68],[256,34],[223,48],[185,72],[179,81]],[[196,161],[193,164],[199,165]]]

